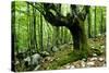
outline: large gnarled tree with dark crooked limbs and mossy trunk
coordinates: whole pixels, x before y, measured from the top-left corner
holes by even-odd
[[[58,11],[59,9],[61,9],[61,7],[58,5],[61,4],[40,3],[33,7],[36,8],[44,15],[45,20],[49,22],[52,26],[64,26],[70,29],[73,38],[74,51],[78,52],[78,54],[86,56],[88,52],[88,46],[84,28],[84,21],[89,12],[89,7],[77,7],[71,4],[71,13],[68,13],[66,16],[64,16],[61,14],[61,12]]]

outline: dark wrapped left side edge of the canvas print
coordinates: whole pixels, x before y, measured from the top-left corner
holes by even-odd
[[[12,53],[11,53],[11,56],[12,56],[12,58],[11,58],[11,60],[12,60],[12,63],[11,63],[11,70],[12,71],[15,71],[15,64],[14,64],[14,62],[15,62],[15,54],[14,54],[14,52],[15,52],[15,50],[14,49],[17,49],[16,48],[16,38],[15,38],[15,2],[14,1],[12,1],[12,3],[11,3],[11,26],[12,26],[12,33],[11,33],[11,38],[12,38]]]

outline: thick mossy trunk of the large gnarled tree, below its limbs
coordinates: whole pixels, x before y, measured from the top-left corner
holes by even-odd
[[[69,27],[69,29],[73,38],[74,52],[86,58],[88,52],[87,51],[88,46],[84,28],[84,22],[75,23],[71,27]]]

